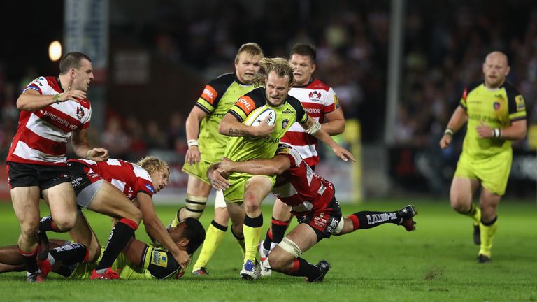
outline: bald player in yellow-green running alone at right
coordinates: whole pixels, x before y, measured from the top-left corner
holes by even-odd
[[[513,161],[512,142],[526,136],[526,105],[522,94],[506,81],[510,67],[503,52],[490,52],[482,66],[484,80],[464,89],[461,101],[447,123],[440,147],[468,122],[462,153],[450,190],[454,210],[473,219],[473,242],[480,245],[478,262],[492,257],[492,240],[498,228],[498,204],[506,192]],[[473,194],[481,188],[479,208]]]

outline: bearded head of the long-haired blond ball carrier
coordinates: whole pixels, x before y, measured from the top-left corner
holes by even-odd
[[[261,66],[265,70],[266,100],[268,105],[280,106],[293,87],[293,69],[284,58],[264,58]]]

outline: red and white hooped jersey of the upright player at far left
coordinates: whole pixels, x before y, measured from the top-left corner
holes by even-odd
[[[39,77],[24,87],[42,95],[62,93],[59,78]],[[35,111],[22,110],[17,133],[6,161],[23,164],[65,165],[67,139],[77,129],[90,126],[92,108],[87,99],[52,103]]]

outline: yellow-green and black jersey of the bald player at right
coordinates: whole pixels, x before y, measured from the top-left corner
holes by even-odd
[[[460,106],[468,114],[463,152],[474,159],[485,159],[510,150],[511,141],[503,138],[479,138],[475,129],[484,122],[492,128],[506,128],[511,122],[526,119],[526,105],[520,92],[505,82],[498,89],[488,89],[478,82],[464,89]]]

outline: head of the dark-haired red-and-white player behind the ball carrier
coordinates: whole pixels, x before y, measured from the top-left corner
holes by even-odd
[[[303,86],[310,82],[315,71],[317,50],[310,44],[297,43],[291,49],[289,64],[294,68],[294,86]]]

